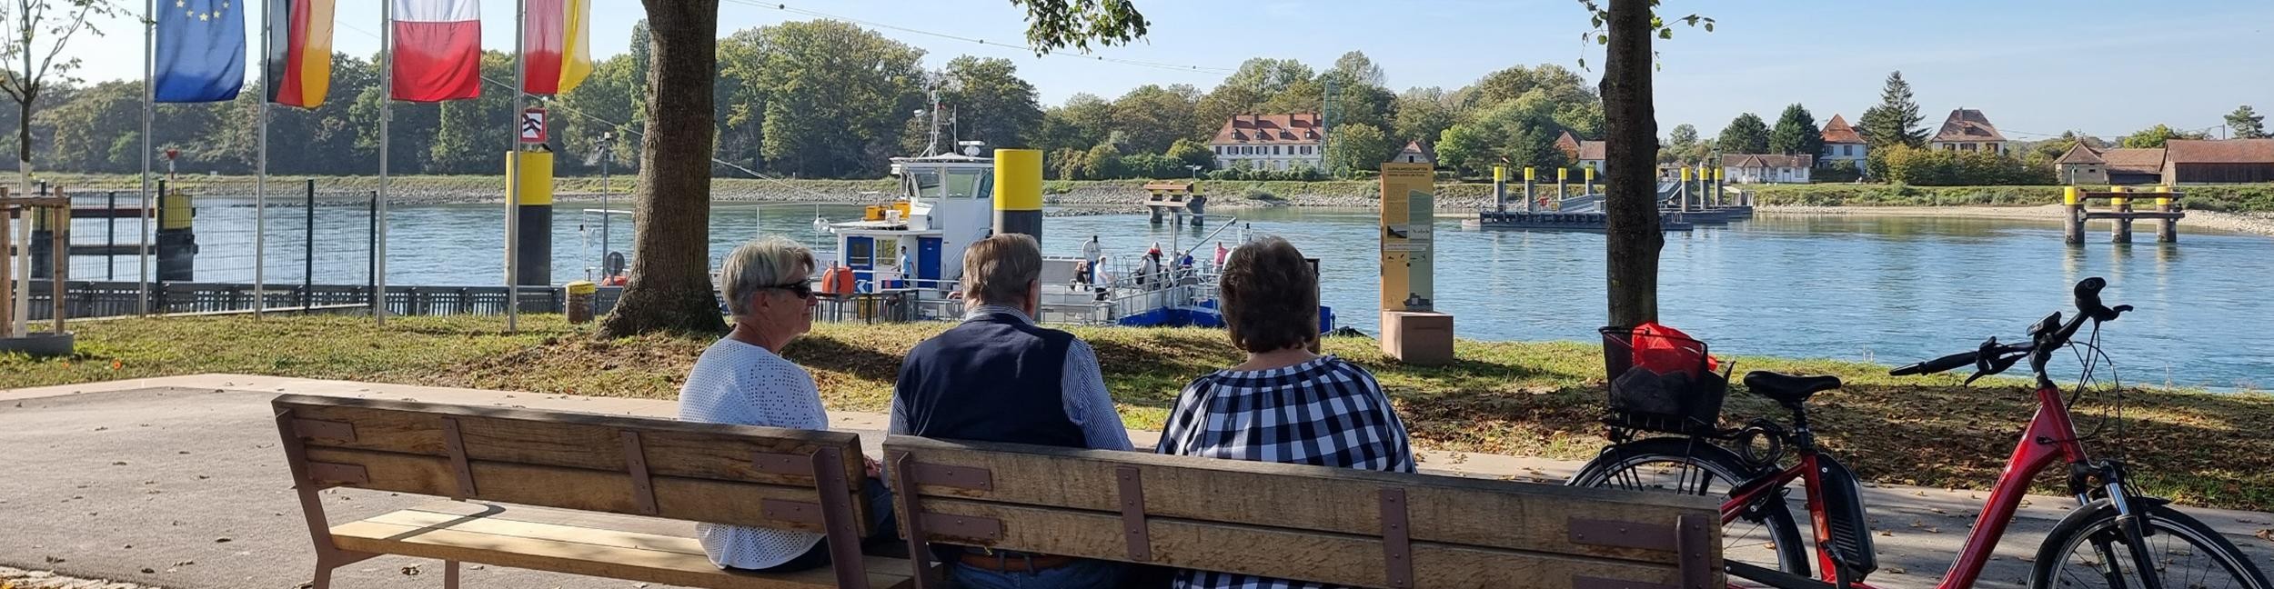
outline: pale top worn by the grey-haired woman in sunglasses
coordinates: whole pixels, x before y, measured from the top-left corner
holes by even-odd
[[[680,387],[680,421],[828,430],[814,378],[766,348],[719,339]],[[821,544],[816,532],[696,523],[696,539],[716,566],[780,566]]]

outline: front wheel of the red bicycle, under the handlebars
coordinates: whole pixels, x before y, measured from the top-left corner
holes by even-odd
[[[2163,589],[2274,589],[2267,575],[2233,541],[2167,505],[2133,500],[2142,521],[2142,544]],[[2117,507],[2094,500],[2053,525],[2038,548],[2028,575],[2033,589],[2147,589],[2135,546],[2117,525]]]

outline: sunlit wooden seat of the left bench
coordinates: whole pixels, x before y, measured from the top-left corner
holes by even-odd
[[[505,509],[512,514],[514,509]],[[525,519],[525,516],[523,516]],[[343,550],[716,589],[837,587],[830,569],[785,575],[712,566],[691,537],[402,509],[332,528]],[[907,559],[864,557],[871,587],[907,587]]]

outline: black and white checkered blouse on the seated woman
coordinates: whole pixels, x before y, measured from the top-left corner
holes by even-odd
[[[1319,357],[1271,371],[1203,375],[1176,398],[1160,432],[1162,455],[1255,459],[1412,473],[1405,443],[1383,384],[1373,373]],[[1310,589],[1301,580],[1178,571],[1176,587],[1192,589]]]

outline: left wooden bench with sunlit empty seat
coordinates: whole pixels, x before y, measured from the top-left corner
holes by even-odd
[[[907,559],[860,555],[873,514],[848,432],[316,396],[273,407],[316,589],[377,555],[443,559],[450,589],[459,562],[721,589],[910,580]],[[330,525],[318,491],[332,487],[453,500]],[[837,566],[721,571],[684,532],[639,532],[659,519],[825,532]]]

